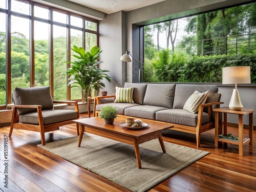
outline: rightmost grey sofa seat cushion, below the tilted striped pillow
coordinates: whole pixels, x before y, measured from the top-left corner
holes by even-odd
[[[169,109],[156,112],[156,120],[187,126],[197,126],[197,113],[190,113],[183,109]],[[209,122],[209,115],[203,112],[202,124]]]

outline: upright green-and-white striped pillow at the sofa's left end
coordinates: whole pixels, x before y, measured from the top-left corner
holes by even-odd
[[[116,100],[115,103],[134,103],[132,88],[118,88],[116,87]]]

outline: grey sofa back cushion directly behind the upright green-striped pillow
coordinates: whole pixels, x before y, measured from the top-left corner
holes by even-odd
[[[143,104],[147,83],[131,83],[125,82],[124,88],[134,87],[133,101],[138,104]]]

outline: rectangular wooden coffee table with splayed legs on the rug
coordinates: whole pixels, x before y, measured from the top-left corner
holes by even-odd
[[[166,152],[161,131],[172,128],[173,124],[140,118],[144,123],[147,123],[147,126],[138,130],[131,130],[119,125],[119,123],[125,122],[127,117],[118,115],[114,124],[105,124],[104,119],[99,117],[74,120],[73,122],[79,124],[78,147],[81,145],[83,132],[134,145],[138,168],[141,168],[140,143],[158,138],[163,153]]]

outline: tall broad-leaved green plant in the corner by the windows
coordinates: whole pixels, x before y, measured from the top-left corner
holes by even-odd
[[[92,96],[93,89],[105,88],[105,84],[101,81],[103,78],[110,82],[110,77],[106,74],[109,71],[98,68],[99,63],[102,63],[102,61],[98,61],[102,52],[99,51],[99,47],[93,47],[90,52],[76,46],[72,50],[79,55],[73,55],[78,60],[67,61],[71,63],[71,67],[68,69],[70,78],[67,86],[78,87],[84,101],[87,101],[88,97]]]

